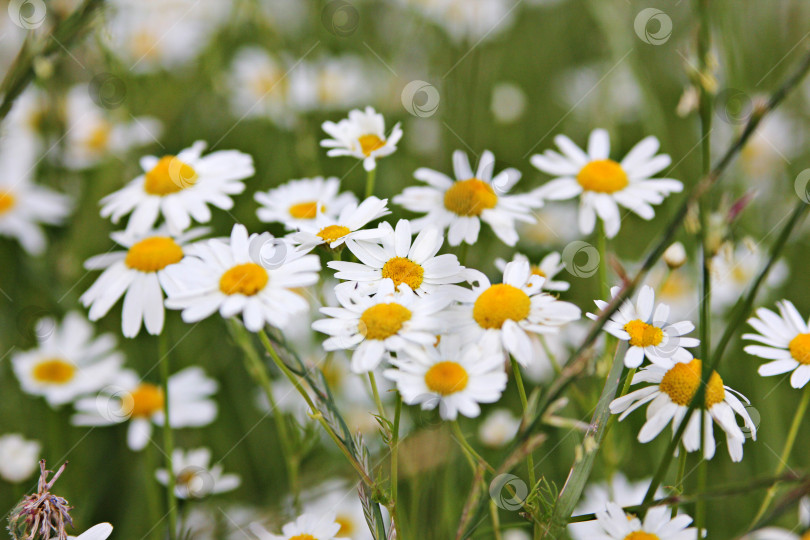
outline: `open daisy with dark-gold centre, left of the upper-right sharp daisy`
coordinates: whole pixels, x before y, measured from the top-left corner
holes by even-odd
[[[426,213],[413,220],[419,231],[428,226],[448,229],[451,246],[478,240],[481,222],[488,224],[500,240],[514,246],[518,240],[515,221],[534,223],[531,208],[542,206],[542,200],[528,195],[506,195],[520,180],[517,169],[504,169],[493,178],[495,156],[484,151],[473,172],[467,154],[453,152],[455,180],[432,169],[417,169],[414,178],[428,184],[409,187],[394,197],[393,202],[412,212]]]

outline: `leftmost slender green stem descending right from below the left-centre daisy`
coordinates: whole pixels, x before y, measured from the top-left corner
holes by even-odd
[[[287,421],[284,418],[284,413],[279,409],[273,394],[273,383],[267,373],[267,367],[261,361],[261,358],[259,358],[259,354],[256,352],[256,348],[253,346],[253,342],[251,342],[245,327],[236,319],[231,319],[228,323],[231,328],[231,335],[233,335],[234,339],[245,353],[245,368],[248,374],[262,389],[270,404],[270,410],[273,413],[273,422],[276,425],[276,432],[278,433],[279,442],[281,443],[281,453],[284,458],[284,463],[287,465],[290,490],[293,493],[293,506],[296,510],[300,510],[301,486],[298,479],[299,459],[295,454],[293,442],[287,430]]]

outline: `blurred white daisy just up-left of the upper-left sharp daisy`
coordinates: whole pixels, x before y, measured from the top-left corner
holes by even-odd
[[[81,84],[71,88],[67,95],[64,153],[67,167],[92,167],[109,154],[120,154],[158,140],[163,132],[160,121],[143,116],[113,120],[93,102],[90,91]]]

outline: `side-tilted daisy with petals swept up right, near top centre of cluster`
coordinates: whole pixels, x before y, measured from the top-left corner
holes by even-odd
[[[377,197],[369,197],[360,203],[360,206],[355,202],[344,206],[337,218],[318,214],[314,221],[302,224],[299,232],[293,233],[290,238],[298,244],[298,249],[302,251],[312,251],[320,245],[335,249],[350,238],[355,240],[377,239],[380,237],[378,228],[361,229],[369,222],[390,214],[387,203],[388,199],[380,200]]]

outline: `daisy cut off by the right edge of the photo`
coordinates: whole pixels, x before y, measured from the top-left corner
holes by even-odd
[[[748,319],[758,334],[743,334],[761,345],[747,345],[745,352],[771,360],[759,367],[763,377],[782,375],[792,371],[790,385],[804,388],[810,381],[810,329],[799,311],[788,300],[777,302],[779,315],[765,308],[756,311],[757,316]]]

